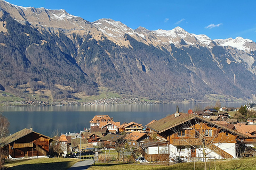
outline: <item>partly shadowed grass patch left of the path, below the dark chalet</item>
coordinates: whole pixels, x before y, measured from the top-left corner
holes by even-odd
[[[15,160],[9,163],[5,163],[5,166],[12,170],[66,170],[78,161],[79,159],[72,158],[38,158]]]

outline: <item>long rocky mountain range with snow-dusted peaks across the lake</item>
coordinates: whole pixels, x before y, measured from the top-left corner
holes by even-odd
[[[89,22],[65,10],[0,0],[2,89],[22,86],[53,98],[119,94],[172,101],[248,99],[255,94],[256,44],[211,40],[180,27],[150,31],[119,21]],[[32,91],[33,91],[32,90]]]

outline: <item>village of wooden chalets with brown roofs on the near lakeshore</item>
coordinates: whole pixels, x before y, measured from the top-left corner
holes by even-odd
[[[241,108],[255,111],[256,105]],[[80,133],[50,138],[23,129],[2,139],[1,148],[7,159],[50,157],[53,152],[62,157],[80,154],[81,158],[82,152],[105,162],[129,162],[140,157],[144,162],[169,164],[255,156],[256,118],[238,122],[228,114],[241,108],[207,108],[203,112],[189,109],[180,113],[177,106],[174,114],[152,120],[146,127],[139,122],[121,124],[108,115],[96,115],[90,120],[90,128]],[[110,151],[117,155],[110,156]]]

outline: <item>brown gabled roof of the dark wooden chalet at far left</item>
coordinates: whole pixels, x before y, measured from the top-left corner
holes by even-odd
[[[36,134],[41,135],[41,136],[43,136],[43,137],[45,137],[45,138],[52,139],[52,138],[50,138],[50,137],[47,137],[46,135],[43,135],[43,134],[41,134],[41,133],[37,133],[37,132],[34,132],[33,130],[30,130],[30,129],[25,128],[25,129],[22,129],[22,130],[19,131],[19,132],[13,133],[12,135],[9,135],[8,137],[3,138],[3,139],[1,140],[1,145],[0,145],[0,147],[3,147],[4,145],[7,145],[7,144],[9,144],[9,143],[11,143],[11,142],[14,142],[15,140],[18,140],[18,139],[20,139],[20,138],[22,138],[22,137],[25,137],[26,135],[28,135],[28,134],[30,134],[30,133],[36,133]],[[54,139],[52,139],[52,140],[54,140]]]

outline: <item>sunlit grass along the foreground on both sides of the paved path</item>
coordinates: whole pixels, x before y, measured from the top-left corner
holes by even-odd
[[[20,169],[38,169],[38,170],[46,170],[46,169],[58,169],[64,170],[71,167],[73,164],[78,162],[79,159],[69,159],[69,158],[41,158],[41,159],[27,159],[27,160],[17,160],[13,162],[6,163],[5,165],[9,167],[9,169],[20,170]],[[256,157],[243,158],[243,159],[230,159],[230,160],[222,160],[215,162],[216,169],[227,170],[227,169],[256,169]],[[194,163],[180,163],[174,165],[159,165],[159,164],[111,164],[111,163],[96,163],[96,165],[92,165],[89,167],[89,170],[120,170],[120,169],[132,169],[132,170],[148,170],[148,169],[157,169],[157,170],[177,170],[177,169],[194,169]],[[204,169],[204,163],[197,162],[196,163],[197,170]],[[209,169],[209,162],[207,162],[207,169]],[[214,161],[211,162],[211,169],[215,169]]]

